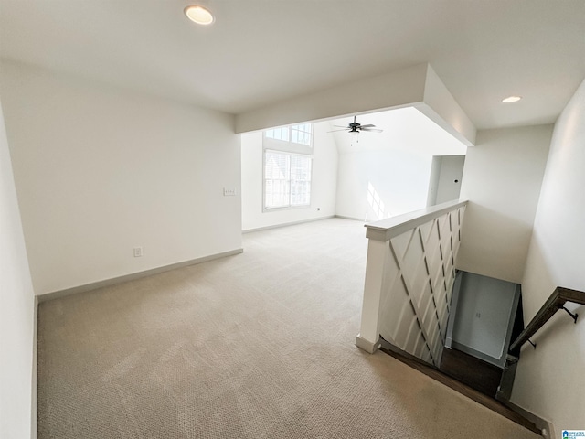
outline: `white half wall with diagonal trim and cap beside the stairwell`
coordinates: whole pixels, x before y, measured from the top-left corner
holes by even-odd
[[[384,337],[441,364],[466,205],[454,200],[366,225],[359,348],[373,353]]]

